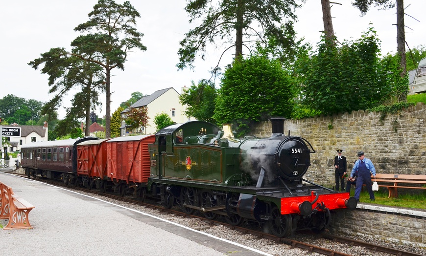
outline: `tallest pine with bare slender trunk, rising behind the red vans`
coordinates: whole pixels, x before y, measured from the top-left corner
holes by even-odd
[[[143,34],[135,28],[136,18],[140,17],[129,1],[117,4],[114,0],[99,0],[89,13],[89,21],[74,28],[85,34],[72,41],[75,51],[68,54],[98,64],[105,72],[106,138],[111,137],[111,70],[124,70],[127,55],[133,49],[146,50],[141,43]]]

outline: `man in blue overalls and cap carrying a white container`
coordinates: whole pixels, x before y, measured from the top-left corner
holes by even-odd
[[[362,185],[365,184],[368,193],[370,194],[370,201],[374,201],[374,193],[371,187],[371,175],[376,177],[376,168],[374,168],[373,162],[370,159],[364,157],[364,152],[359,151],[357,153],[358,161],[355,162],[354,168],[351,172],[350,180],[355,180],[355,172],[358,172],[355,186],[355,199],[359,202],[359,194],[361,193]]]

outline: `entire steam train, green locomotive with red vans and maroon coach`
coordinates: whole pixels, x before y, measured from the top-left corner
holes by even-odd
[[[301,137],[284,135],[284,119],[271,123],[269,138],[237,139],[230,124],[220,129],[192,121],[155,136],[83,138],[68,142],[69,149],[45,145],[64,142],[32,143],[22,148],[22,166],[28,176],[59,177],[142,200],[150,194],[165,208],[178,205],[208,219],[224,216],[231,225],[258,222],[280,237],[305,229],[321,232],[331,223],[331,210],[354,210],[356,199],[349,193],[303,178],[315,150]],[[58,169],[53,162],[64,158],[61,150],[71,153]]]

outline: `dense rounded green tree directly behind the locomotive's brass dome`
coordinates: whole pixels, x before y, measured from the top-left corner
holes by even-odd
[[[238,135],[252,122],[271,116],[290,117],[293,80],[278,60],[252,55],[228,67],[218,90],[213,118],[237,125]]]

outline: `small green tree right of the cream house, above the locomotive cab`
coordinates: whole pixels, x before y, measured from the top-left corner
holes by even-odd
[[[217,92],[214,84],[203,79],[198,82],[198,85],[195,85],[192,81],[192,86],[179,96],[179,101],[181,104],[188,106],[187,110],[185,110],[187,116],[215,123],[213,114],[216,96]]]

